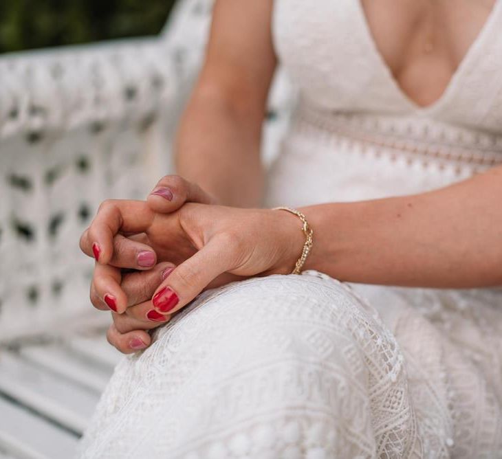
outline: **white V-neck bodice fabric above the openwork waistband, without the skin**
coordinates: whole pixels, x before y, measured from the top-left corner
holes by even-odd
[[[276,0],[273,30],[281,62],[312,107],[337,113],[429,118],[501,132],[499,0],[444,94],[425,108],[407,98],[395,82],[375,47],[359,0],[319,0],[315,8],[301,0]]]

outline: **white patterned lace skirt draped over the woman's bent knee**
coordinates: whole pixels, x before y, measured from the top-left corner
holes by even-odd
[[[391,298],[393,332],[316,271],[204,293],[124,357],[79,457],[502,457],[496,348],[466,354]]]

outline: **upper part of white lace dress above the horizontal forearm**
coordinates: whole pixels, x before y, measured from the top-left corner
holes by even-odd
[[[272,24],[298,97],[268,205],[413,194],[502,164],[502,1],[425,108],[397,85],[360,1],[276,0]]]

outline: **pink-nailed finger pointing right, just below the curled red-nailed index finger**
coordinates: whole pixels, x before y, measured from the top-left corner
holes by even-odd
[[[156,263],[157,255],[149,245],[122,234],[113,238],[113,255],[109,265],[129,269],[151,269]]]

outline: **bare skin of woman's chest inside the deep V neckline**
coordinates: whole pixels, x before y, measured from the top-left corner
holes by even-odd
[[[495,0],[361,0],[375,47],[404,93],[433,104],[488,21]]]

